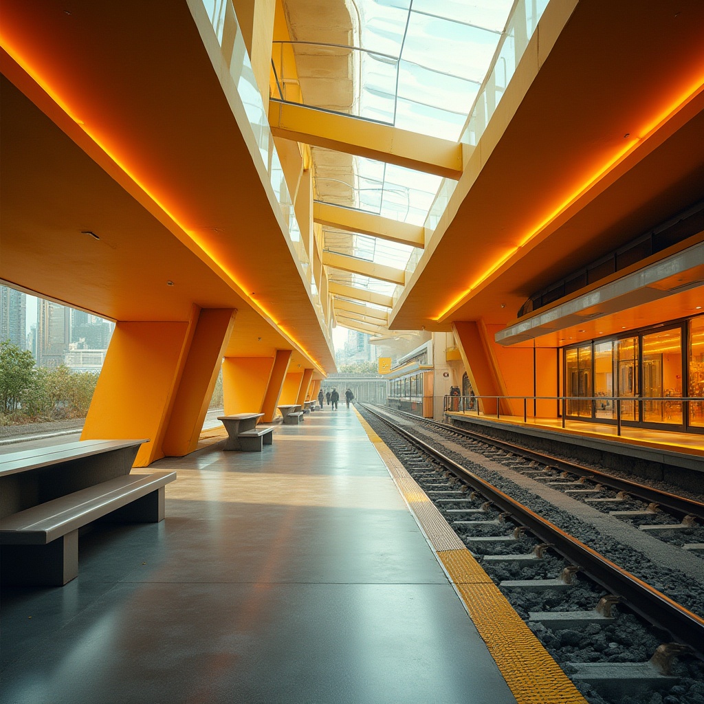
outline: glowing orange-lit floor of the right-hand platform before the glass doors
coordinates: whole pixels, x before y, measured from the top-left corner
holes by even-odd
[[[448,415],[467,415],[479,417],[487,421],[496,420],[496,415],[484,415],[474,411],[458,411]],[[618,440],[626,444],[643,445],[654,448],[667,448],[673,452],[682,452],[695,455],[704,455],[704,434],[677,433],[670,430],[654,430],[652,428],[634,428],[622,426],[621,435],[618,436],[615,425],[606,423],[594,423],[582,420],[565,420],[565,427],[562,427],[562,418],[531,418],[527,422],[519,415],[501,415],[499,422],[513,423],[514,425],[525,425],[529,427],[544,428],[547,430],[557,430],[573,435],[585,435],[589,437],[603,437]]]

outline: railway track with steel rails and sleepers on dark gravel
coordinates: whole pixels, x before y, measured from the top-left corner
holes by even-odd
[[[444,443],[432,441],[427,436],[423,437],[422,433],[413,427],[420,421],[417,417],[409,418],[407,414],[386,408],[383,411],[370,406],[363,406],[363,408],[375,419],[375,429],[382,439],[389,444],[411,476],[436,503],[465,545],[482,561],[486,571],[495,582],[499,583],[512,603],[516,601],[513,597],[519,594],[517,601],[524,606],[517,610],[520,613],[521,610],[523,611],[522,615],[527,617],[529,625],[532,625],[539,637],[542,634],[549,644],[551,640],[555,641],[553,635],[555,630],[562,634],[560,636],[562,639],[565,638],[565,633],[571,632],[573,635],[570,638],[574,640],[575,628],[577,631],[593,630],[596,624],[605,629],[613,629],[612,605],[617,603],[615,611],[620,615],[632,612],[637,616],[637,620],[650,624],[649,635],[642,636],[643,642],[651,643],[655,653],[653,657],[660,662],[659,665],[651,663],[651,669],[655,667],[660,675],[672,672],[672,656],[678,653],[680,655],[689,653],[692,656],[689,658],[691,660],[689,669],[692,670],[689,674],[693,674],[695,679],[702,679],[704,665],[700,660],[704,657],[704,619],[701,615],[686,608],[675,598],[662,593],[657,584],[653,586],[647,579],[643,579],[642,575],[636,576],[631,570],[620,566],[617,558],[596,551],[579,537],[574,536],[571,530],[560,527],[555,520],[541,515],[543,511],[538,512],[529,508],[510,496],[507,491],[479,476],[472,468],[471,462],[463,461],[457,453],[439,445],[448,445],[447,441],[453,443],[457,439],[468,439],[472,443],[488,441],[494,447],[494,451],[487,451],[489,455],[494,455],[491,456],[491,460],[517,458],[524,468],[529,467],[525,469],[529,473],[559,475],[562,472],[570,472],[577,478],[577,482],[579,478],[584,477],[584,481],[588,479],[590,482],[606,486],[605,483],[612,479],[610,475],[596,472],[591,467],[579,467],[575,463],[560,458],[525,450],[503,441],[483,437],[479,439],[476,437],[477,434],[429,422],[428,425],[433,427],[434,432],[441,431],[446,439]],[[392,415],[396,418],[395,422]],[[380,425],[382,423],[383,427]],[[423,425],[425,423],[424,421]],[[384,431],[384,428],[388,430]],[[477,448],[473,446],[472,451],[476,450]],[[501,453],[501,457],[497,458],[496,453]],[[546,472],[546,467],[551,469]],[[513,469],[516,470],[515,465]],[[628,496],[667,506],[667,510],[672,510],[672,515],[677,516],[682,522],[687,516],[693,516],[693,520],[704,516],[704,505],[697,501],[651,487],[643,488],[636,482],[628,482],[618,477],[613,479],[614,482],[610,484],[612,491],[622,494],[628,491]],[[688,558],[698,561],[698,558],[693,555],[688,555]],[[524,569],[528,570],[527,577],[522,573]],[[575,577],[577,572],[580,575],[578,578]],[[519,577],[519,579],[505,579],[505,577]],[[579,585],[579,589],[573,589],[570,584]],[[585,586],[587,584],[588,586]],[[704,585],[699,586],[704,593]],[[586,589],[586,596],[584,589]],[[569,599],[564,595],[570,591],[579,594],[577,600],[579,604],[567,603]],[[527,601],[524,596],[520,596],[525,593],[531,595]],[[546,598],[544,604],[540,604],[543,596],[535,596],[537,593],[542,593]],[[590,609],[591,600],[593,605]],[[583,617],[577,612],[580,609],[584,610],[585,602],[589,613]],[[565,612],[555,610],[563,603],[567,603],[567,611],[572,612],[571,616],[569,614],[565,616]],[[528,608],[540,610],[527,611]],[[546,616],[546,613],[551,615]],[[603,640],[599,635],[599,627],[590,636],[597,643],[600,642],[600,638]],[[578,633],[577,638],[580,637]],[[584,637],[586,639],[586,636]],[[641,639],[641,636],[631,636],[631,639]],[[628,658],[627,654],[622,653],[622,655]],[[619,661],[617,653],[606,653],[605,658],[607,662]],[[681,660],[687,659],[681,658]],[[635,662],[628,662],[628,660],[624,662],[628,665],[636,665]],[[569,668],[568,662],[567,670]],[[580,679],[589,680],[589,675],[586,679],[584,676],[584,672],[589,670],[588,667],[586,670],[584,667],[578,670],[579,672],[574,675],[576,683]],[[645,675],[641,677],[641,682],[644,681],[644,677]],[[655,681],[653,687],[658,686],[665,685],[662,681]],[[611,687],[613,689],[613,684]],[[614,692],[611,691],[611,694]],[[608,698],[605,701],[620,701],[620,699],[616,695],[615,698]],[[671,697],[667,701],[689,702],[697,699]]]

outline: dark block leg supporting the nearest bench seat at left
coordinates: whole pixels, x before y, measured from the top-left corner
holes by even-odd
[[[78,531],[46,545],[4,545],[3,584],[63,586],[78,576]]]

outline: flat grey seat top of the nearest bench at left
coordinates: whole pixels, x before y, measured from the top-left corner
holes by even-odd
[[[176,472],[126,474],[32,506],[0,521],[0,543],[44,545],[176,479]]]

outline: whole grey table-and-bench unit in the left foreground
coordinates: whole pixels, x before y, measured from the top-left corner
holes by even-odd
[[[143,440],[87,440],[0,455],[1,577],[61,586],[78,574],[78,530],[158,522],[175,472],[130,474]]]

